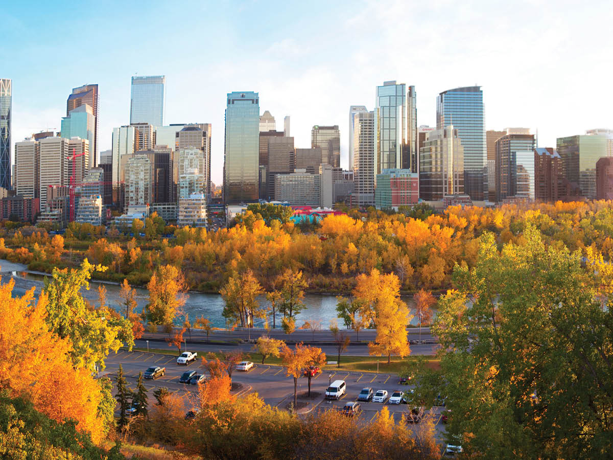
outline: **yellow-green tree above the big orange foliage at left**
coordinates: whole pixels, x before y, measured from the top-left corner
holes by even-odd
[[[96,364],[104,369],[111,350],[116,352],[124,344],[131,349],[134,345],[128,320],[110,314],[106,307],[88,309],[80,289],[89,289],[94,271],[104,271],[104,267],[89,264],[87,259],[80,269],[54,268],[43,288],[49,302],[47,324],[59,337],[72,342],[70,356],[75,367],[86,367],[90,372]]]

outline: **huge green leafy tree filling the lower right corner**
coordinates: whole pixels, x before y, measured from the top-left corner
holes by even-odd
[[[613,429],[613,311],[581,250],[549,245],[528,223],[522,240],[480,239],[475,266],[456,266],[441,297],[447,431],[470,433],[466,454],[604,458]],[[470,299],[470,302],[467,302]]]

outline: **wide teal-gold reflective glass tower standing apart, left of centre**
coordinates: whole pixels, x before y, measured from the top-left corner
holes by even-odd
[[[224,148],[224,202],[257,202],[259,197],[260,98],[253,91],[227,94]]]

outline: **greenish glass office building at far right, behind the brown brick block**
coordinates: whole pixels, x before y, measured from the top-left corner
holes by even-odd
[[[583,196],[596,198],[596,162],[613,156],[613,131],[590,129],[585,134],[558,137],[556,150],[562,157],[566,179],[579,185]]]

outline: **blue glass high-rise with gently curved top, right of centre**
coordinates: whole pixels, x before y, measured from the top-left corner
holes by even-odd
[[[436,128],[454,125],[464,148],[464,188],[473,201],[482,201],[487,188],[487,150],[481,86],[443,91],[436,98]]]

